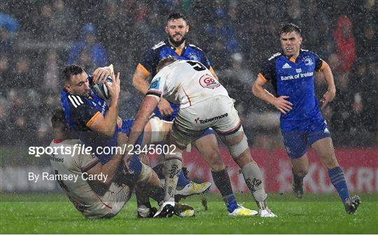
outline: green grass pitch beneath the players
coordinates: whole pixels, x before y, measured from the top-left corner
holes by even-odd
[[[187,202],[195,208],[191,218],[137,219],[134,198],[113,219],[88,221],[61,195],[0,195],[1,234],[319,234],[378,233],[377,194],[361,195],[358,213],[347,215],[335,194],[269,196],[275,219],[228,216],[219,196],[207,195],[205,211],[201,197]],[[255,209],[251,196],[237,196],[239,203]],[[42,201],[43,200],[43,201]]]

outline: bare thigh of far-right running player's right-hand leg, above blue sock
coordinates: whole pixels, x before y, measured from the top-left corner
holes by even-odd
[[[333,147],[332,138],[322,138],[312,144],[316,154],[321,158],[321,162],[328,170],[339,166],[335,156],[335,149]]]

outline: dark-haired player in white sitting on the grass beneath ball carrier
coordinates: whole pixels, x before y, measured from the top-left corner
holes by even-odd
[[[87,219],[116,216],[130,200],[134,186],[136,189],[143,187],[146,196],[151,196],[158,202],[162,201],[164,196],[161,193],[164,190],[160,186],[158,175],[150,167],[142,163],[142,173],[139,178],[134,179],[127,172],[119,171],[123,164],[123,154],[117,153],[102,164],[97,156],[75,152],[75,146],[83,147],[84,144],[69,131],[63,110],[55,111],[51,123],[54,140],[50,146],[61,150],[50,156],[52,169],[55,177],[76,175],[76,180],[58,179],[57,182],[76,209]],[[125,133],[118,133],[118,147],[123,147],[126,141]],[[178,215],[186,209],[193,209],[188,205],[179,206],[174,209],[174,213]],[[138,216],[148,215],[151,215],[150,212],[141,212],[139,209]]]

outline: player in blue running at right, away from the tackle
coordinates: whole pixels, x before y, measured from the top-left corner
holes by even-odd
[[[314,73],[319,71],[328,83],[328,91],[321,99],[321,108],[335,98],[336,88],[330,66],[314,52],[300,49],[301,30],[295,24],[284,25],[279,36],[283,52],[274,54],[262,67],[252,92],[281,112],[281,132],[293,165],[295,196],[302,198],[303,195],[303,178],[309,170],[307,149],[311,146],[328,169],[346,212],[353,214],[360,205],[360,198],[349,196],[344,173],[335,157],[330,131],[321,115],[314,91]],[[276,96],[264,89],[268,81],[272,83]]]

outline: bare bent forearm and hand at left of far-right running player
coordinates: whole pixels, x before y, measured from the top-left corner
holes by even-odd
[[[293,104],[286,100],[287,98],[289,98],[288,96],[279,96],[278,98],[276,98],[273,94],[264,89],[264,84],[265,80],[258,76],[255,83],[253,84],[252,94],[274,105],[274,107],[283,114],[286,114],[293,109]]]

